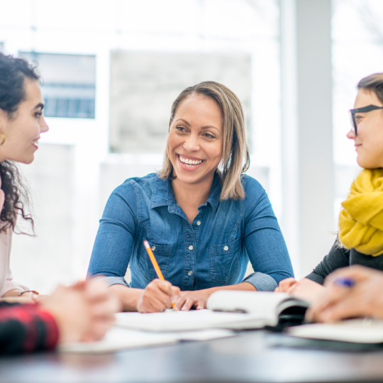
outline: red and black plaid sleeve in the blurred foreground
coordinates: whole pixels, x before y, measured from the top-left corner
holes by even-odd
[[[0,302],[0,354],[50,350],[58,338],[54,318],[38,304]]]

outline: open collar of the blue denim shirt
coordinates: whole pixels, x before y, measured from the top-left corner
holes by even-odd
[[[221,191],[222,187],[219,183],[218,174],[215,173],[209,198],[206,201],[206,204],[209,203],[214,211],[218,208]],[[206,206],[206,204],[201,206]],[[158,206],[171,207],[173,205],[177,205],[177,201],[174,198],[172,181],[170,181],[170,179],[161,179],[160,177],[157,177],[152,191],[152,203],[150,208],[154,209]]]

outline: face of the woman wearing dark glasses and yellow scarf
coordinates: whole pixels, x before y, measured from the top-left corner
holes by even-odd
[[[383,106],[373,91],[360,89],[357,92],[354,109],[364,106]],[[355,113],[357,135],[349,131],[347,137],[354,140],[357,164],[365,169],[383,167],[383,109],[367,113]]]

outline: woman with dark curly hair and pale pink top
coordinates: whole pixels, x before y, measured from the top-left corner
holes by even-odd
[[[0,57],[0,296],[32,299],[28,287],[13,281],[10,268],[12,234],[18,216],[29,221],[26,189],[13,161],[29,164],[40,133],[48,131],[38,74],[25,61]],[[23,299],[25,300],[25,299]]]

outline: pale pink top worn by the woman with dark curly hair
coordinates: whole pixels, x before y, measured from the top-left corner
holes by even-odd
[[[1,187],[1,179],[0,179]],[[4,191],[0,189],[0,211],[4,206]],[[12,233],[11,229],[1,231],[0,233],[0,297],[9,290],[29,290],[28,287],[13,281],[11,264],[11,247],[12,247]]]

